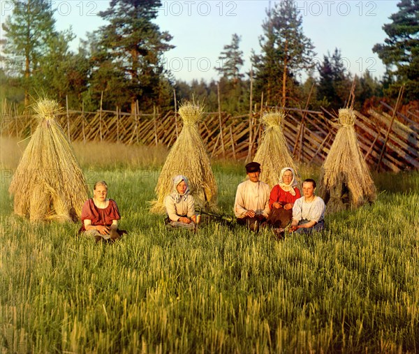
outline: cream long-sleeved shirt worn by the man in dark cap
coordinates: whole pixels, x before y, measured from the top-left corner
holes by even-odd
[[[237,186],[234,203],[234,214],[237,218],[244,218],[248,210],[267,217],[269,208],[270,187],[262,181],[251,182],[248,179]]]

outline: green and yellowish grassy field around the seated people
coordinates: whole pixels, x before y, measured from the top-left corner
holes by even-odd
[[[166,230],[148,212],[166,149],[76,145],[89,185],[108,182],[128,230],[107,245],[79,237],[80,225],[13,214],[16,146],[1,140],[0,353],[419,351],[417,171],[374,175],[374,205],[277,242],[216,222]],[[244,168],[213,169],[230,212]]]

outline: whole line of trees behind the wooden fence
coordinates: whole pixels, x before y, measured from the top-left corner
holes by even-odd
[[[103,109],[133,112],[139,105],[149,111],[157,105],[164,110],[176,97],[204,101],[207,110],[215,111],[221,96],[221,110],[242,113],[249,110],[252,90],[253,100],[268,106],[307,103],[310,109],[337,110],[346,105],[355,80],[357,109],[383,96],[397,98],[402,84],[406,103],[419,97],[419,3],[401,0],[397,6],[383,25],[385,43],[372,48],[385,64],[381,81],[369,71],[353,78],[340,48],[316,62],[294,0],[282,0],[266,10],[251,71],[243,71],[241,37],[233,34],[219,54],[219,80],[185,82],[175,80],[163,63],[163,54],[174,46],[170,32],[154,22],[160,0],[111,0],[98,13],[106,24],[88,33],[76,52],[69,47],[75,34],[57,31],[49,0],[13,0],[13,13],[2,26],[1,102],[6,98],[26,107],[31,97],[47,95],[61,105],[68,100],[72,108],[96,110],[105,93]]]

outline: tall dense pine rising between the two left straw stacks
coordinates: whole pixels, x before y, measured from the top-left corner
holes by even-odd
[[[161,95],[165,71],[162,56],[173,46],[172,36],[153,22],[160,0],[112,0],[110,8],[98,15],[110,24],[98,31],[98,65],[113,64],[119,76],[128,78],[124,89],[131,101],[131,112],[139,100],[142,108],[152,107]],[[115,92],[115,90],[112,90]]]

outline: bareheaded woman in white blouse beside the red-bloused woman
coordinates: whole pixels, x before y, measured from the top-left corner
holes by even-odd
[[[293,221],[290,230],[295,233],[312,233],[314,230],[321,231],[325,227],[325,202],[315,196],[316,181],[305,179],[302,182],[301,198],[295,200],[293,206]]]

